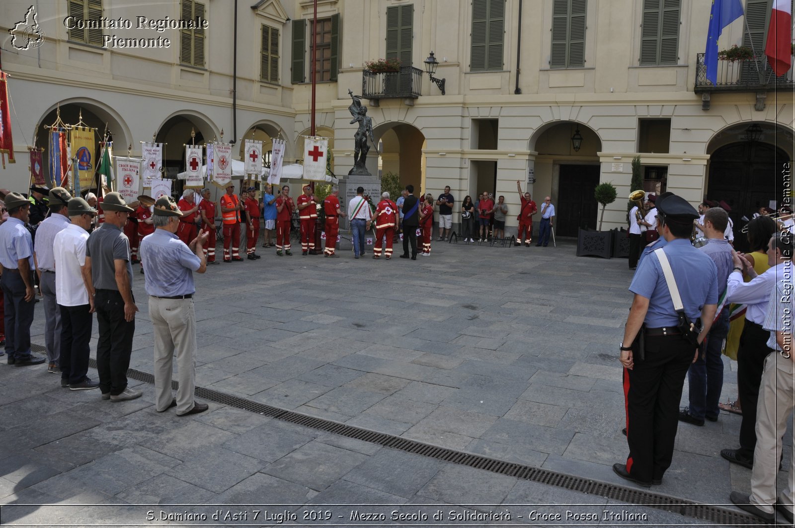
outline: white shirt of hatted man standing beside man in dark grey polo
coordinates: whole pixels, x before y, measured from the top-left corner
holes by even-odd
[[[55,236],[52,250],[55,254],[55,297],[63,306],[88,304],[88,292],[83,283],[81,266],[86,265],[88,231],[70,223]]]

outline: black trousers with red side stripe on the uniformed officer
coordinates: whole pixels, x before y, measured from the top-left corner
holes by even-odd
[[[684,376],[696,348],[682,336],[646,336],[646,359],[633,354],[634,369],[624,369],[626,470],[648,482],[671,465]]]

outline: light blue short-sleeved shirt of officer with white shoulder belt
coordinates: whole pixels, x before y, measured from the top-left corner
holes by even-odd
[[[684,313],[695,322],[704,305],[718,304],[718,269],[703,251],[688,239],[673,239],[665,246],[665,256],[677,281]],[[679,320],[656,254],[640,265],[630,284],[630,292],[649,299],[644,322],[648,328],[675,327]]]

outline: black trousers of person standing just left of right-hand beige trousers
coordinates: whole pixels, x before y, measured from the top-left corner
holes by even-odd
[[[761,325],[746,320],[737,349],[737,392],[743,402],[743,421],[740,423],[739,456],[754,460],[756,448],[756,404],[765,358],[771,350],[767,347],[770,332]]]

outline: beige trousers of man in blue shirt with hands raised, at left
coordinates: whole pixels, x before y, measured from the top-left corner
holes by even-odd
[[[173,400],[171,379],[176,355],[176,413],[193,408],[196,387],[196,313],[193,299],[163,299],[149,296],[149,317],[154,328],[154,393],[158,411]]]

